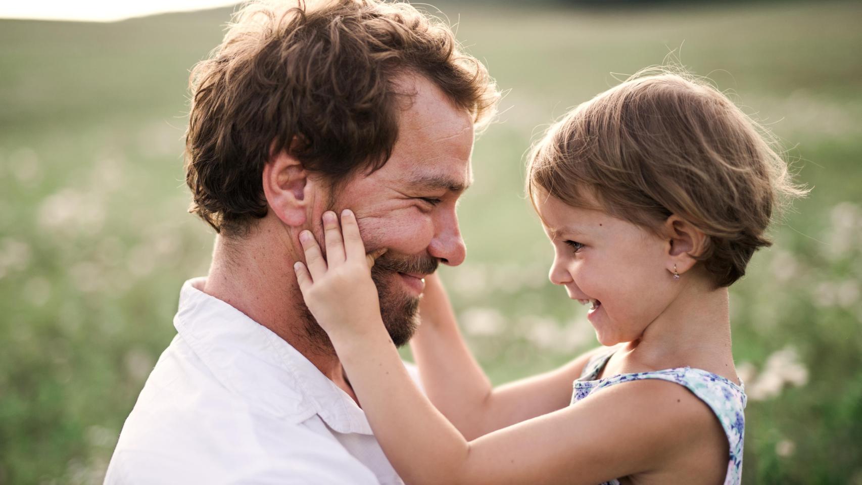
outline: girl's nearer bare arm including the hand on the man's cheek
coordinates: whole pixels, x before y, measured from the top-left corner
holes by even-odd
[[[408,483],[583,483],[661,474],[716,426],[709,408],[672,382],[627,382],[468,442],[415,388],[380,317],[359,227],[324,215],[328,260],[300,234],[297,281],[332,339],[375,436]],[[708,427],[712,426],[712,427]],[[726,463],[726,462],[725,462]]]

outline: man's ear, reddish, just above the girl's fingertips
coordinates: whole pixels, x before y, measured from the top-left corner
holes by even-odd
[[[303,165],[286,150],[270,153],[264,165],[266,203],[284,224],[305,224],[309,203],[309,176]]]

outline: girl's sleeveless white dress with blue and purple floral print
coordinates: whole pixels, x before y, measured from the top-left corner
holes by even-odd
[[[743,410],[746,407],[746,393],[743,382],[740,385],[730,382],[722,376],[706,370],[678,367],[676,369],[655,370],[653,372],[637,372],[634,374],[618,374],[599,379],[604,366],[616,349],[600,353],[590,359],[584,366],[584,372],[574,382],[572,404],[597,391],[620,382],[640,381],[641,379],[661,379],[677,382],[689,389],[692,394],[705,402],[718,417],[721,427],[728,435],[730,444],[730,460],[728,474],[724,485],[740,485],[742,480],[742,442],[745,434],[746,420]],[[604,482],[601,485],[620,485],[618,480]]]

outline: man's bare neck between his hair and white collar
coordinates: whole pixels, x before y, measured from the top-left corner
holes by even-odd
[[[292,270],[296,259],[288,249],[290,241],[285,240],[289,235],[266,238],[259,235],[261,231],[256,232],[239,242],[215,238],[203,292],[227,302],[284,339],[356,401],[332,345],[306,330],[308,317]]]

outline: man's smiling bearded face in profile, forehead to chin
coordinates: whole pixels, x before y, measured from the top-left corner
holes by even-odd
[[[470,115],[453,107],[434,84],[409,77],[403,85],[415,96],[401,113],[391,158],[371,175],[353,177],[334,197],[336,213],[351,208],[356,214],[365,250],[387,250],[372,277],[396,345],[407,343],[415,331],[422,277],[440,263],[464,261],[455,208],[471,183],[473,144]]]

